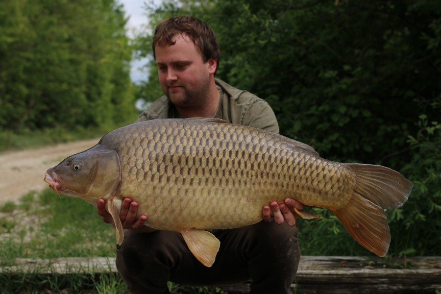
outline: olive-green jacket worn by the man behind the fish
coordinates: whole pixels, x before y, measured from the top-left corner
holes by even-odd
[[[274,133],[279,132],[279,125],[274,112],[265,100],[247,91],[236,89],[220,79],[215,79],[215,81],[221,94],[221,100],[214,118],[229,123],[253,126]],[[137,122],[179,117],[179,113],[164,95],[154,101],[139,116]]]

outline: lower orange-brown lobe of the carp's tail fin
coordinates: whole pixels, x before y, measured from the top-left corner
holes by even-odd
[[[378,256],[385,256],[391,243],[386,213],[367,198],[354,193],[346,206],[331,211],[349,234]]]

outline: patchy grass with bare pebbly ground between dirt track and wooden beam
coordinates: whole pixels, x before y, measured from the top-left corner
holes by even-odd
[[[0,211],[9,212],[2,213],[0,229],[10,233],[3,242],[11,243],[13,249],[1,249],[2,260],[114,255],[113,228],[98,217],[94,206],[83,202],[59,199],[46,189],[39,195],[26,194],[15,208],[10,202],[4,204]]]

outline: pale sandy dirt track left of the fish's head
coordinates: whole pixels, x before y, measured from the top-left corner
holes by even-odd
[[[90,148],[99,139],[59,144],[38,149],[0,153],[0,204],[17,202],[25,193],[49,187],[45,172],[64,158]]]

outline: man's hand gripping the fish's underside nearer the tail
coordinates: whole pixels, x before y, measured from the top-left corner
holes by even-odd
[[[264,206],[262,209],[262,218],[264,221],[272,221],[272,217],[274,217],[274,221],[278,224],[282,224],[284,221],[288,223],[290,226],[295,225],[295,219],[299,216],[293,213],[292,209],[302,210],[303,204],[292,199],[286,198],[284,203],[278,204],[277,201],[272,201],[270,206]]]

